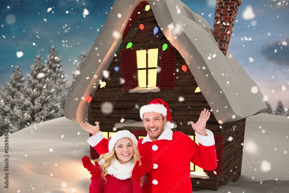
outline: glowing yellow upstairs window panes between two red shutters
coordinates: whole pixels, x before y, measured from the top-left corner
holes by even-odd
[[[142,88],[157,85],[158,48],[136,51],[138,86]]]

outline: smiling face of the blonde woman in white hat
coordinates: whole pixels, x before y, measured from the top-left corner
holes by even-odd
[[[132,146],[131,140],[129,138],[124,137],[116,141],[114,151],[116,153],[118,161],[121,164],[124,164],[131,159],[134,153],[134,147]]]

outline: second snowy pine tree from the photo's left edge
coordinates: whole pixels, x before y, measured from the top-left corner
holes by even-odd
[[[27,80],[19,102],[19,109],[24,112],[19,115],[21,126],[24,128],[30,124],[57,118],[55,111],[58,111],[60,103],[55,99],[55,83],[51,82],[39,55],[34,59]]]

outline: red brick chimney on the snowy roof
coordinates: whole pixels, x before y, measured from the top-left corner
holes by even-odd
[[[216,0],[213,35],[224,56],[227,54],[237,11],[243,0]]]

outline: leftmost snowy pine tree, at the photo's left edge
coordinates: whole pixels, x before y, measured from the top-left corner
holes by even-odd
[[[2,126],[8,124],[10,133],[22,129],[19,127],[16,108],[19,96],[23,92],[24,84],[23,74],[17,65],[10,76],[10,82],[4,83],[0,99],[0,124]]]

